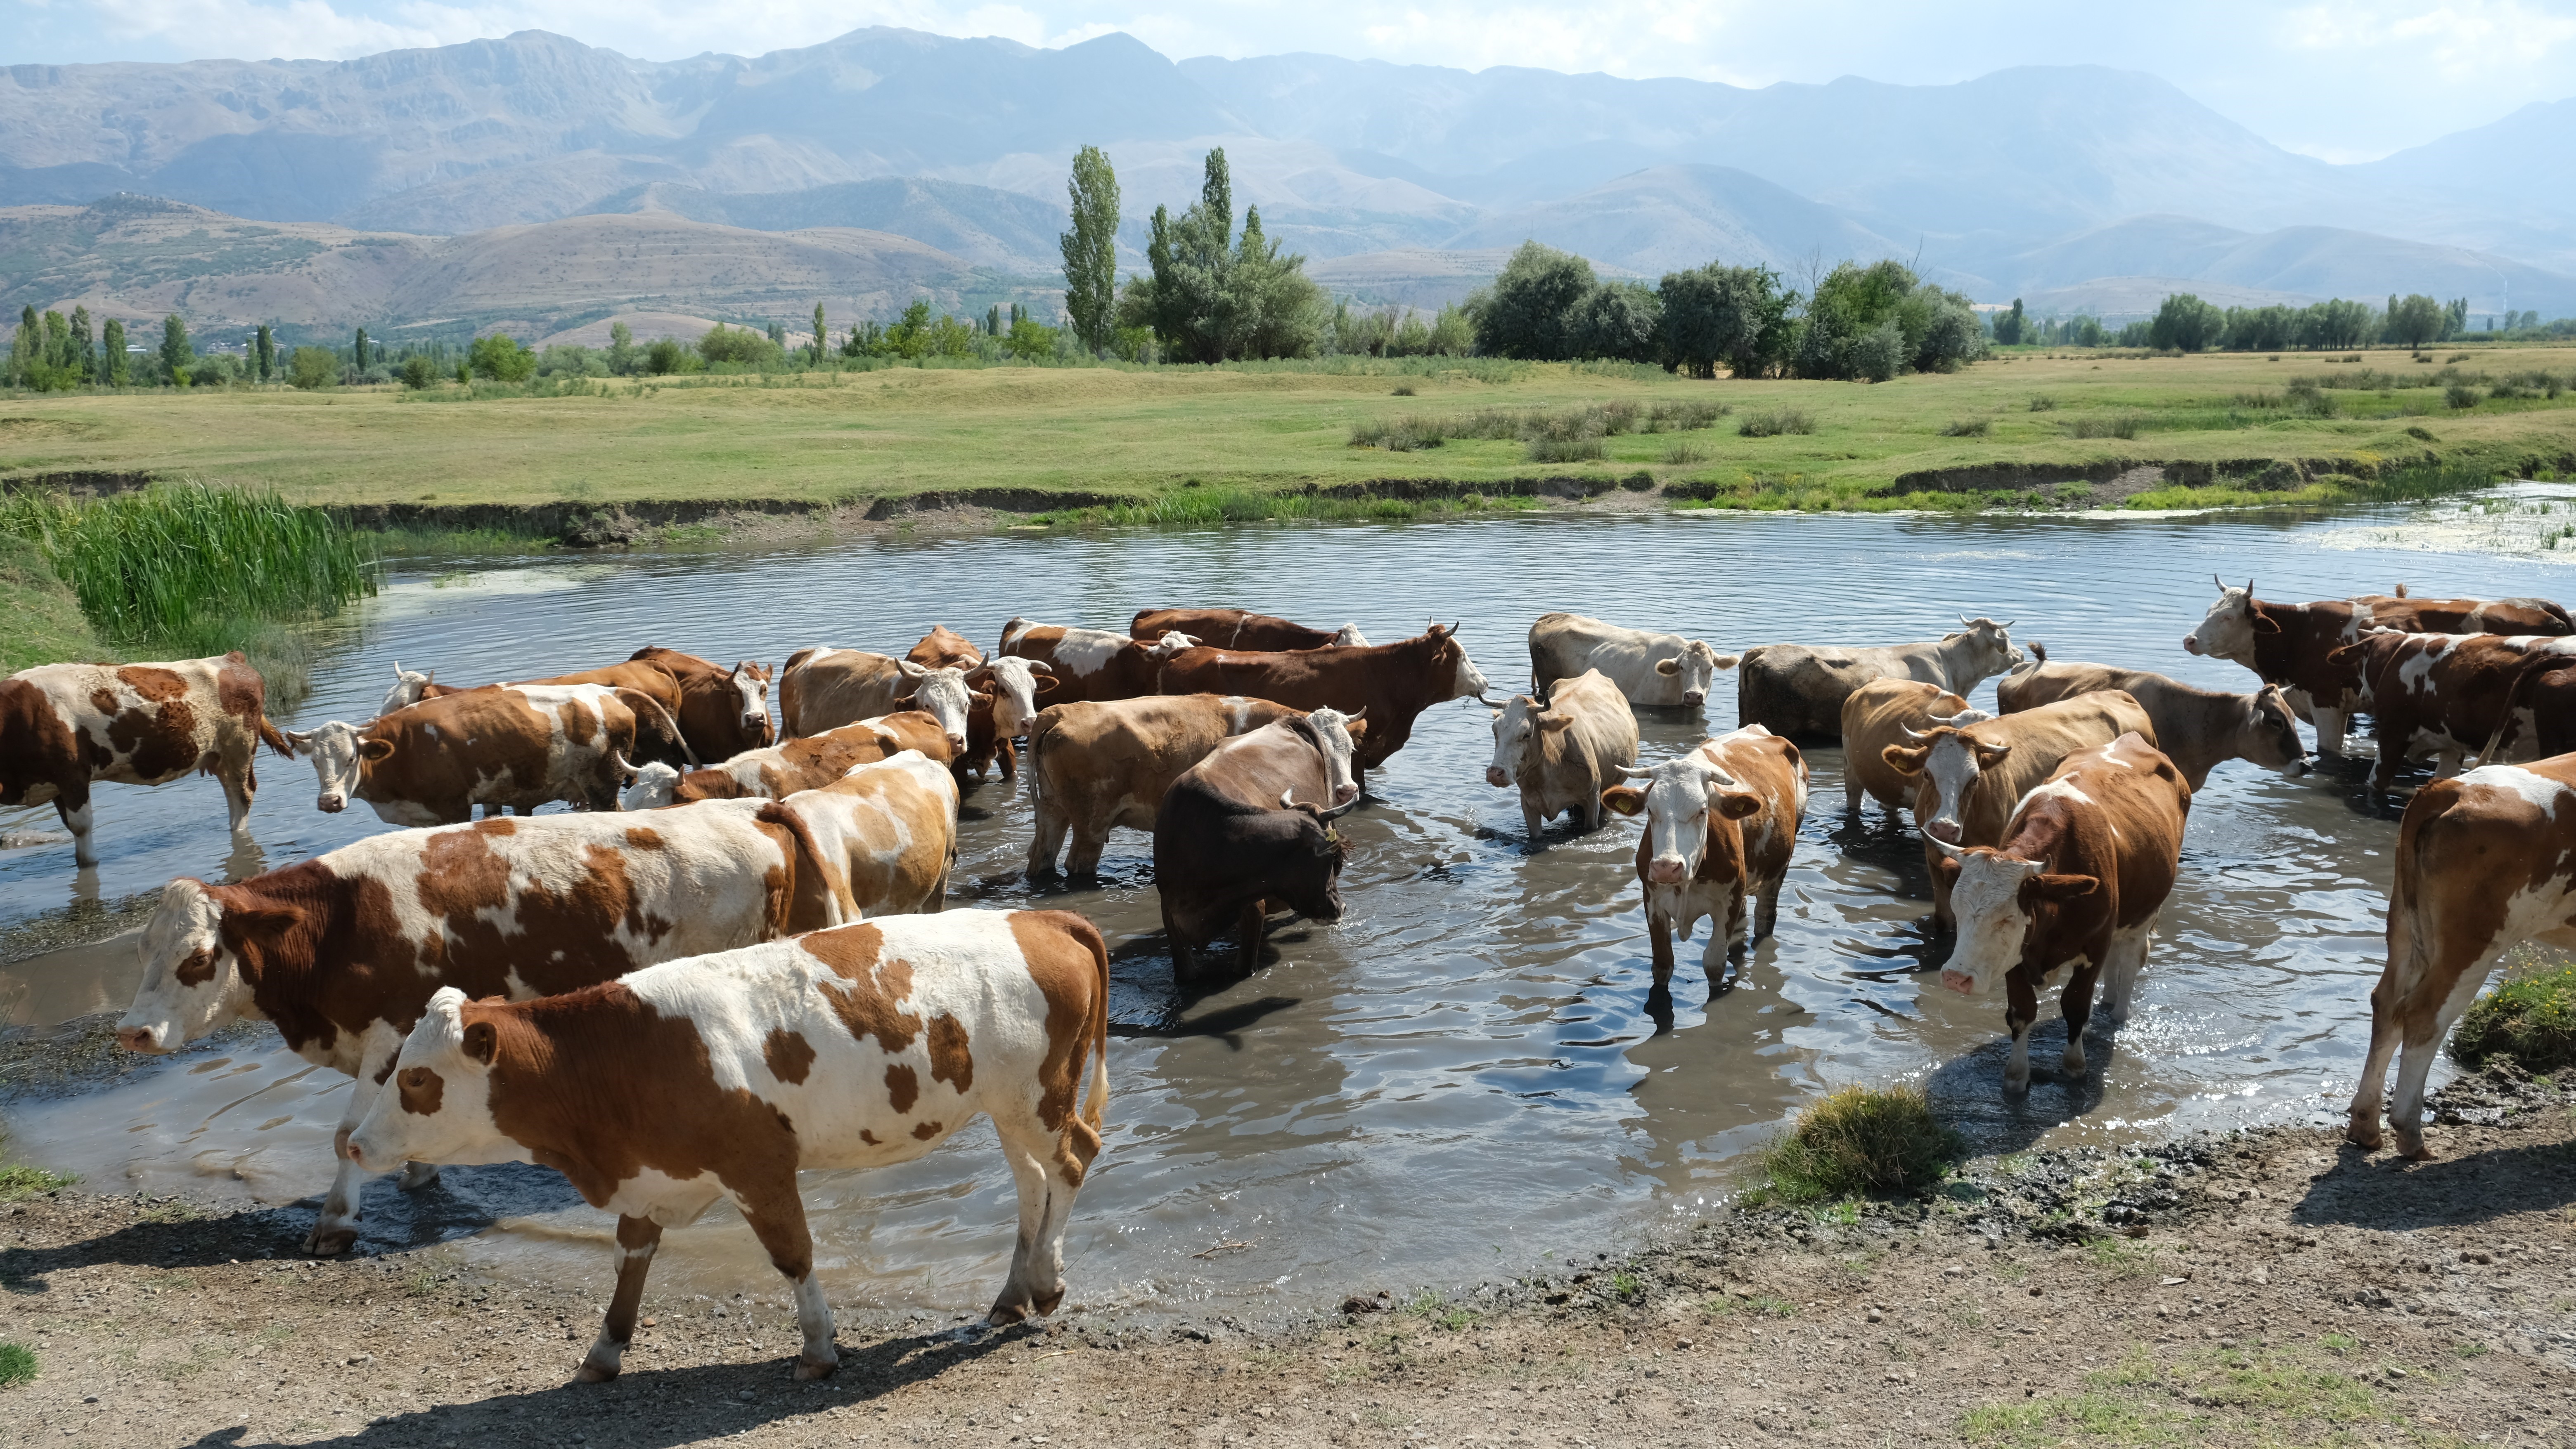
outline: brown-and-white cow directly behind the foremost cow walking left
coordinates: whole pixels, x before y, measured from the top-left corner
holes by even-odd
[[[832,927],[845,919],[835,883],[773,800],[392,831],[237,885],[165,885],[116,1040],[173,1053],[240,1017],[276,1022],[296,1055],[361,1078],[345,1138],[440,986],[551,996]],[[343,1163],[307,1251],[348,1251],[361,1186]]]

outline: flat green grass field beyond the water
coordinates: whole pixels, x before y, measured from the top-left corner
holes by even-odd
[[[149,471],[276,486],[332,504],[531,504],[549,499],[850,502],[948,489],[1028,489],[1151,502],[1200,484],[1247,494],[1381,481],[1504,484],[1535,476],[1685,484],[1734,507],[1904,507],[1906,474],[2027,476],[2115,461],[2267,458],[2303,479],[2452,461],[2491,471],[2576,466],[2576,391],[2494,399],[2494,383],[2576,378],[2576,350],[2362,353],[2360,363],[2262,355],[2007,355],[1891,383],[1687,381],[1656,368],[1497,365],[1401,373],[1327,368],[894,368],[587,383],[574,396],[209,391],[0,399],[0,476]],[[2318,378],[2324,389],[2293,389]],[[2339,386],[2388,381],[2391,386]],[[2403,386],[2396,386],[2403,383]],[[1399,386],[1414,396],[1396,396]],[[2447,389],[2478,401],[2450,407]],[[2324,401],[2318,401],[2324,399]],[[1417,450],[1355,448],[1484,409],[1718,401],[1687,432],[1623,432],[1600,458],[1543,461],[1517,438]],[[1814,432],[1747,435],[1806,414]],[[1437,427],[1435,427],[1437,430]],[[1917,479],[1919,484],[1919,479]],[[1914,492],[1909,484],[1901,492]],[[1958,484],[1953,484],[1955,489]],[[2282,492],[2280,479],[2264,484]],[[2334,481],[2311,499],[2334,494]],[[2239,489],[2241,492],[2241,489]],[[1947,502],[1958,507],[1955,492]],[[1989,494],[1989,502],[2002,502]],[[2192,502],[2159,497],[2154,502]],[[2239,502],[2223,499],[2215,502]]]

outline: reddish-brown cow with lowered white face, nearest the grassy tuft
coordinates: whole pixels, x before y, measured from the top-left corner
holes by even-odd
[[[2182,872],[2192,788],[2146,736],[2069,754],[2022,798],[1996,844],[1942,847],[1935,872],[1958,901],[1958,945],[1940,981],[1976,996],[2004,981],[2012,1058],[2004,1091],[2030,1089],[2030,1027],[2040,988],[2066,973],[2066,1076],[2084,1071],[2094,978],[2102,1014],[2128,1019],[2156,914]]]

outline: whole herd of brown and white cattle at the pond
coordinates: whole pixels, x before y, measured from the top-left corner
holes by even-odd
[[[832,1372],[796,1171],[909,1161],[976,1114],[1020,1189],[992,1318],[1061,1300],[1108,1096],[1108,945],[1069,911],[943,911],[961,782],[1025,770],[1030,875],[1095,872],[1113,829],[1151,831],[1188,983],[1226,934],[1249,968],[1273,911],[1340,919],[1334,818],[1448,700],[1492,710],[1486,780],[1520,793],[1533,839],[1556,816],[1643,816],[1656,996],[1700,919],[1710,978],[1772,929],[1808,811],[1795,741],[1839,741],[1847,808],[1875,798],[1922,834],[1935,924],[1955,932],[1942,986],[2004,983],[2009,1091],[2056,975],[2069,1073],[2097,978],[2125,1017],[2210,770],[2303,775],[2295,718],[2339,754],[2370,713],[2375,788],[2442,762],[2398,829],[2349,1135],[2378,1145],[2403,1045],[2391,1122],[2421,1156],[2427,1068],[2494,957],[2576,945],[2576,808],[2558,816],[2576,806],[2576,623],[2540,600],[2280,605],[2221,584],[2184,649],[2249,667],[2254,692],[2048,661],[2009,628],[1726,656],[1551,613],[1530,692],[1494,700],[1455,625],[1370,646],[1244,610],[1144,610],[1128,633],[1012,618],[992,654],[933,628],[902,659],[804,649],[775,677],[670,649],[482,687],[397,664],[374,721],[307,734],[268,723],[240,654],[49,664],[0,682],[0,806],[54,803],[93,865],[93,782],[211,772],[240,831],[265,744],[312,762],[322,811],[355,798],[410,826],[232,885],[173,880],[118,1040],[170,1053],[268,1019],[358,1078],[314,1253],[353,1246],[371,1174],[559,1168],[618,1215],[590,1380],[618,1372],[662,1228],[719,1197],[796,1287],[799,1377]],[[1741,726],[1643,764],[1633,710],[1695,710],[1728,669]],[[1994,677],[2002,715],[1968,705]],[[580,808],[528,813],[556,800]]]

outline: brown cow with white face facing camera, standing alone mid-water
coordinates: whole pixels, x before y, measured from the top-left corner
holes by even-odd
[[[1672,991],[1672,939],[1708,916],[1700,968],[1716,986],[1736,942],[1752,945],[1780,921],[1780,883],[1806,816],[1806,757],[1762,726],[1721,734],[1654,770],[1623,770],[1641,785],[1613,785],[1602,803],[1646,816],[1636,842],[1636,880],[1646,891],[1646,945],[1654,993]],[[1752,929],[1744,903],[1752,898]]]

